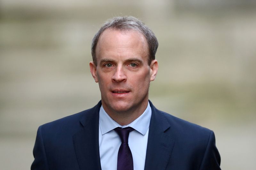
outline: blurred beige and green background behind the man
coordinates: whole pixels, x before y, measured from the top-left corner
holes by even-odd
[[[254,0],[0,0],[0,169],[29,169],[39,125],[97,104],[91,40],[124,15],[158,38],[154,105],[212,129],[222,169],[255,169]]]

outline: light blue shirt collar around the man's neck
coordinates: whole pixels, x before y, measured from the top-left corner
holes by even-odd
[[[151,107],[148,102],[148,107],[146,110],[138,117],[135,119],[133,122],[131,122],[128,125],[121,126],[118,124],[116,121],[114,121],[104,110],[104,108],[101,106],[100,107],[100,115],[99,115],[99,124],[100,124],[100,130],[101,134],[104,135],[105,133],[108,133],[109,131],[121,127],[132,127],[133,129],[137,130],[140,132],[143,136],[147,133],[147,130],[149,128],[149,123],[150,123],[150,118],[151,118]]]

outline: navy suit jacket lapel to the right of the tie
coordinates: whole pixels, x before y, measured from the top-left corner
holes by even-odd
[[[165,169],[172,154],[174,140],[168,135],[170,123],[149,101],[152,115],[149,125],[145,170]]]

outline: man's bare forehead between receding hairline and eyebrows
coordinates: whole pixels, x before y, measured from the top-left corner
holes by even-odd
[[[137,52],[149,54],[148,43],[143,34],[136,30],[121,31],[108,28],[101,35],[95,48],[98,58],[102,53],[115,51],[120,53]]]

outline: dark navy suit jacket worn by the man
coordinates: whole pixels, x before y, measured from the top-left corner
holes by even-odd
[[[213,131],[157,110],[149,101],[145,170],[219,170]],[[100,170],[101,101],[83,112],[38,128],[32,170]]]

